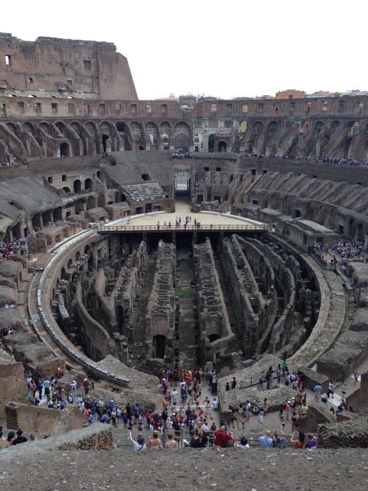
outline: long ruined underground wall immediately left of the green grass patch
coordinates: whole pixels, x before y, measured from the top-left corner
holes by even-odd
[[[158,341],[155,337],[163,336],[165,338],[163,359],[168,366],[172,366],[174,354],[175,283],[175,245],[160,240],[157,248],[156,273],[146,311],[145,353],[147,360],[159,358]]]

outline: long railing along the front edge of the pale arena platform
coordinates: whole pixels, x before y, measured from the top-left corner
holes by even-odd
[[[264,225],[252,225],[252,224],[246,224],[246,225],[200,225],[195,226],[195,225],[187,225],[185,227],[184,225],[181,225],[179,227],[176,227],[175,225],[172,225],[169,227],[168,225],[101,225],[98,228],[99,232],[106,232],[106,233],[111,233],[111,232],[193,232],[193,231],[212,231],[212,230],[220,230],[220,231],[226,231],[226,230],[265,230]]]

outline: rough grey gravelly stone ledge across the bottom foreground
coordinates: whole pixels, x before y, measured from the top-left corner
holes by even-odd
[[[35,452],[0,460],[0,489],[70,491],[368,489],[368,449]]]

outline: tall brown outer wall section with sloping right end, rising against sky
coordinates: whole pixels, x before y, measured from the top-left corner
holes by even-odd
[[[6,95],[137,99],[128,60],[110,42],[0,33],[0,80]],[[6,64],[5,56],[10,57]]]

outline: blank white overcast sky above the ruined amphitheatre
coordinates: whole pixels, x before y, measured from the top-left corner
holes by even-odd
[[[0,31],[114,42],[140,99],[368,89],[368,2],[3,0]]]

